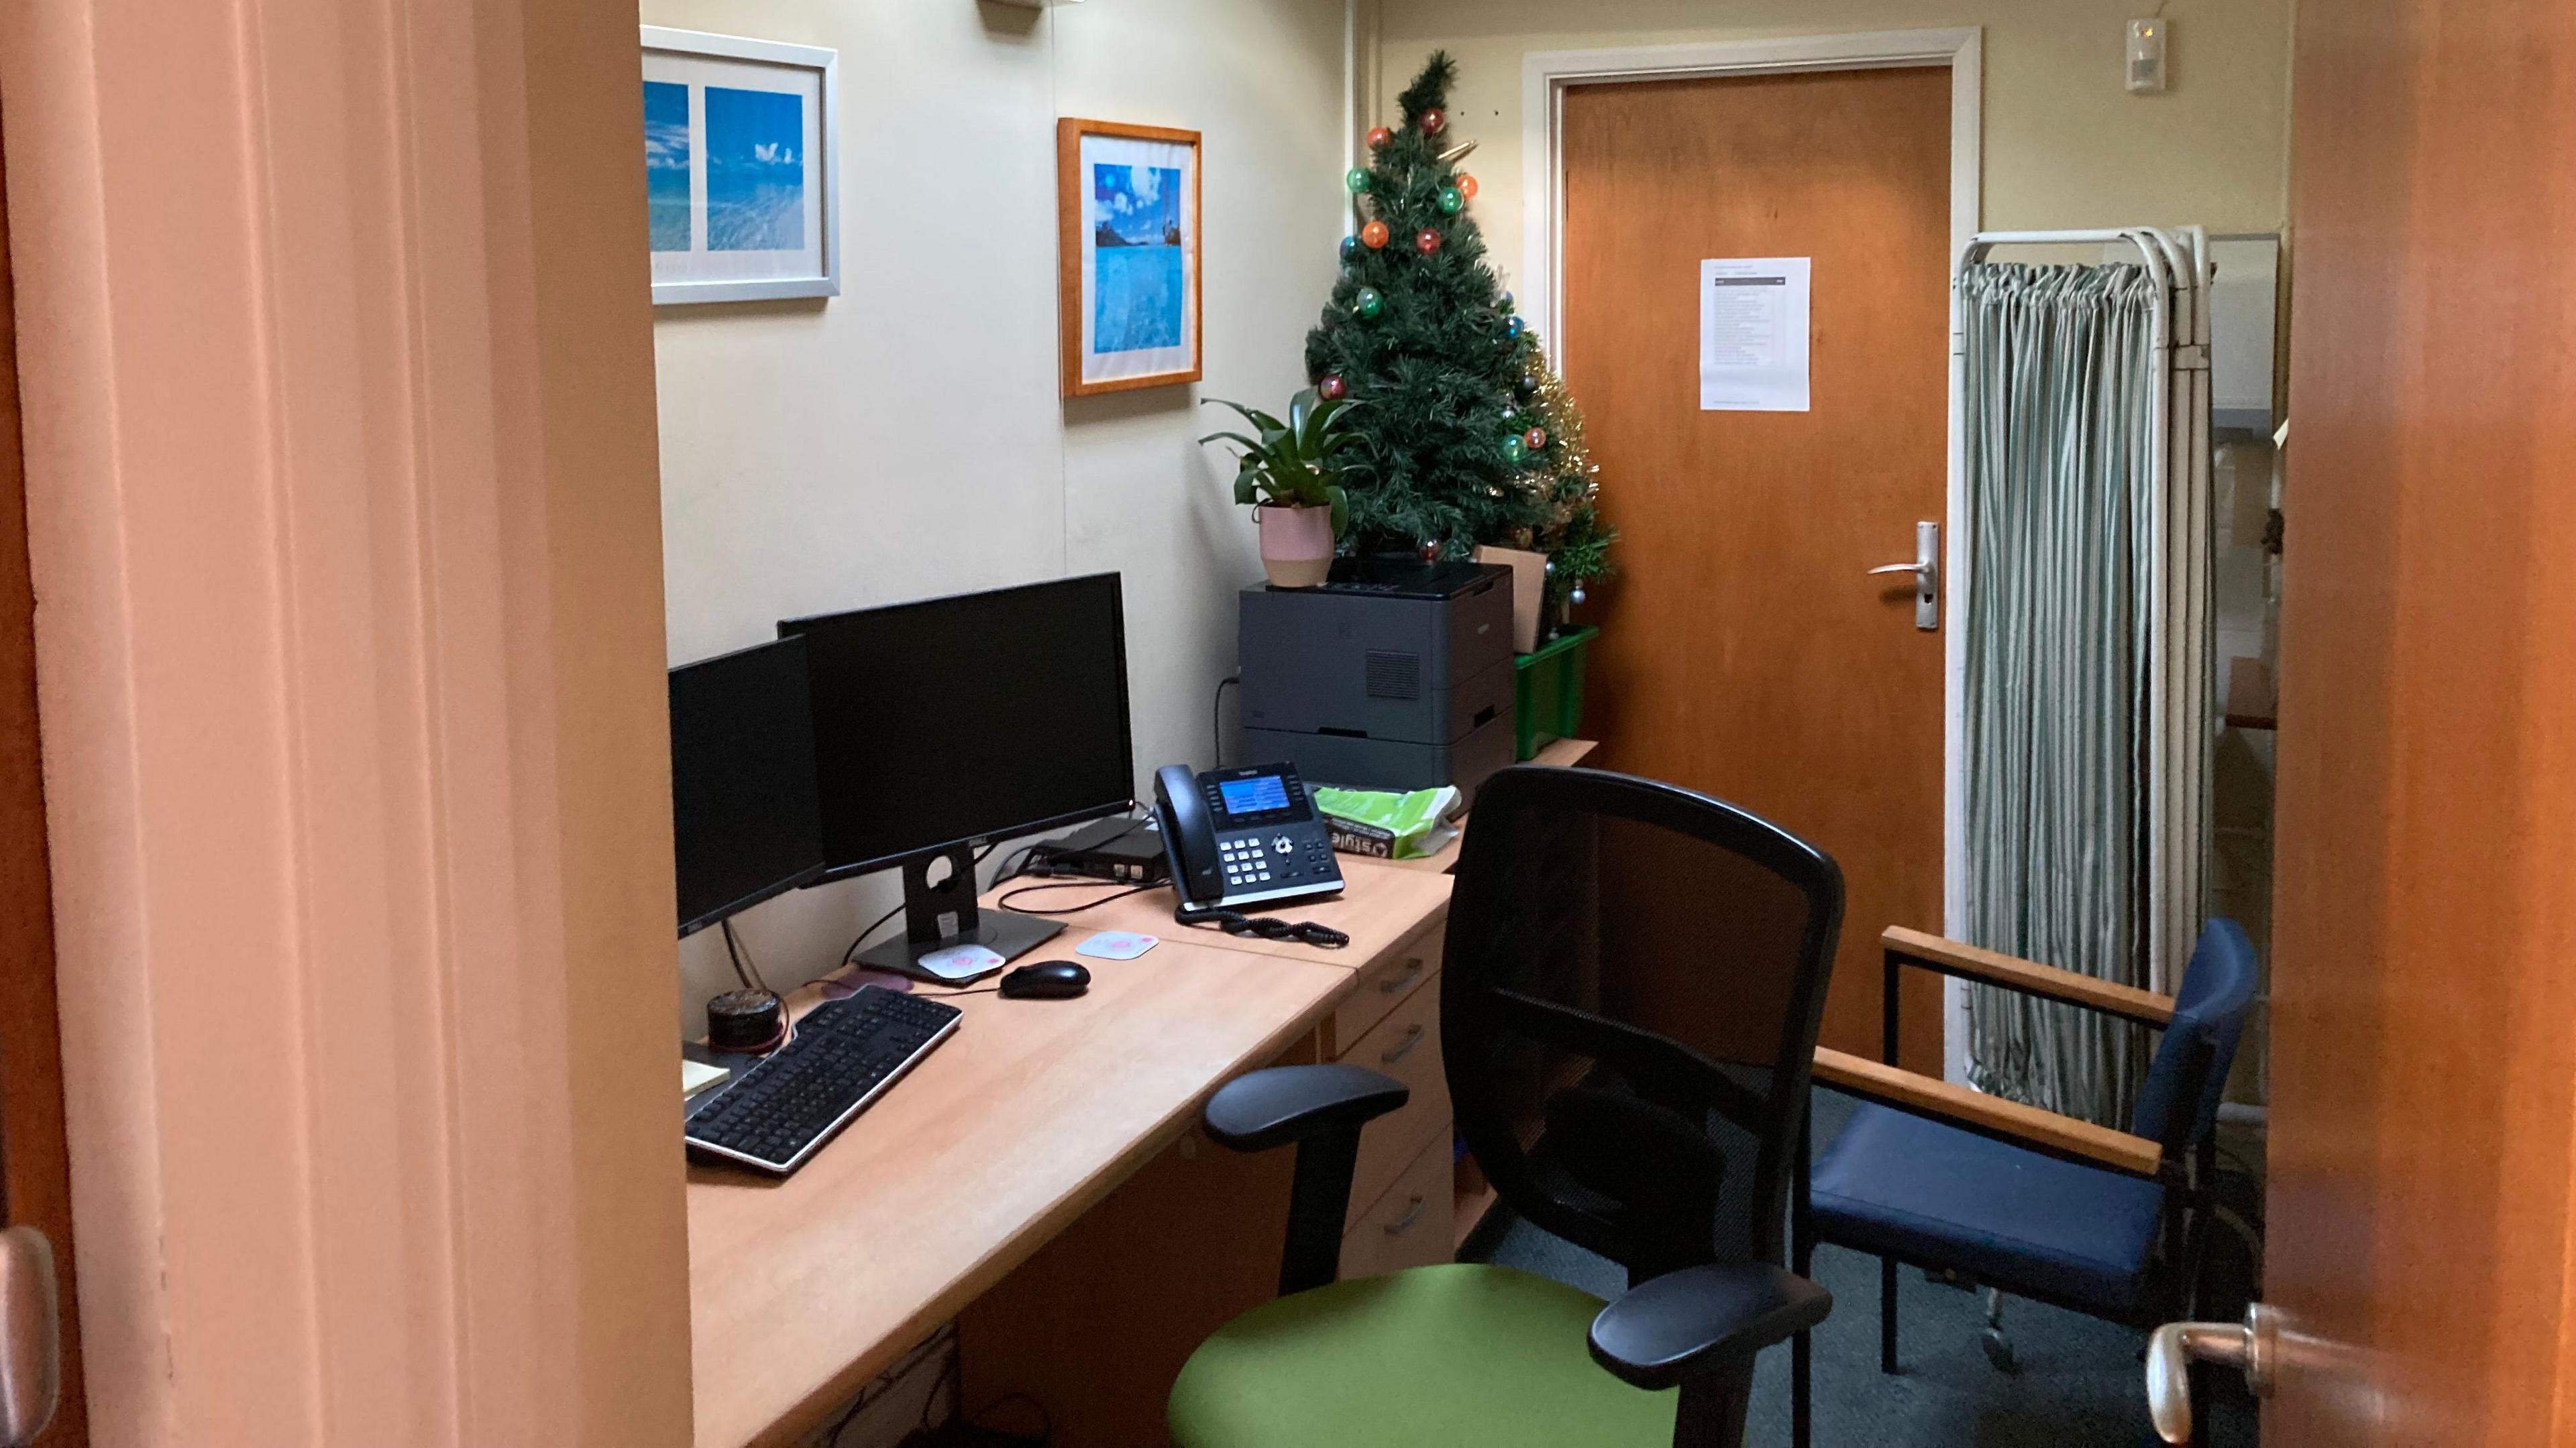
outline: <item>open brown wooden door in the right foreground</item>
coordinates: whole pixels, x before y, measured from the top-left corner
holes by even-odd
[[[2275,1448],[2576,1443],[2576,10],[2298,21]]]

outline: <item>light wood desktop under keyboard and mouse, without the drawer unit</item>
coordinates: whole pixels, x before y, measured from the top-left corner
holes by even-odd
[[[690,1170],[698,1448],[801,1440],[1352,982],[1164,930],[1079,1000],[961,997],[958,1033],[793,1177]]]

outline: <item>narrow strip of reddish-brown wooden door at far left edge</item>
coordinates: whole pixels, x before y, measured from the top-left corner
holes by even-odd
[[[5,178],[0,178],[5,186]],[[72,1281],[72,1167],[62,1131],[62,1028],[54,1020],[54,886],[44,853],[36,750],[36,587],[26,559],[18,443],[18,325],[0,209],[0,1216],[54,1242],[62,1288],[62,1407],[39,1443],[90,1440],[80,1399]]]

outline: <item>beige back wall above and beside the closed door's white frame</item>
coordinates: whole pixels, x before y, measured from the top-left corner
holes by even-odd
[[[2172,0],[2164,95],[2120,88],[2138,0],[1378,0],[1378,119],[1432,49],[1458,57],[1453,129],[1476,139],[1476,222],[1522,265],[1520,59],[1538,49],[1981,26],[1984,227],[2202,224],[2277,232],[2287,216],[2293,0]]]

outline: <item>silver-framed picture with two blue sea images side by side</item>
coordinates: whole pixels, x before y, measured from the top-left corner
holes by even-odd
[[[840,296],[840,54],[644,26],[652,299]]]

